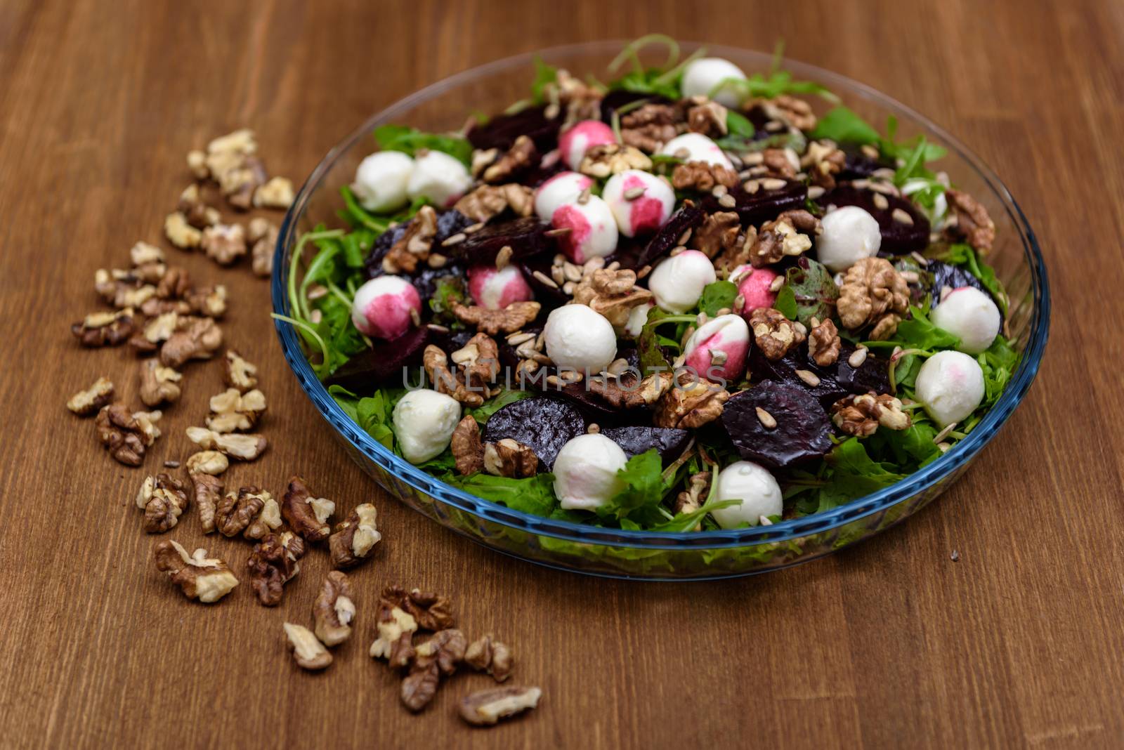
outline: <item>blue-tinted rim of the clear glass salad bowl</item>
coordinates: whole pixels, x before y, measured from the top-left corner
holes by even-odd
[[[456,86],[465,81],[472,80],[481,74],[497,72],[509,67],[526,67],[535,55],[550,57],[551,55],[575,55],[582,52],[605,53],[620,49],[625,42],[590,42],[578,45],[565,45],[543,49],[537,53],[526,53],[513,57],[506,57],[482,66],[473,67],[456,75],[438,81],[425,89],[422,89],[405,99],[397,101],[379,113],[369,118],[363,125],[356,128],[344,141],[336,145],[321,159],[317,167],[305,181],[300,192],[293,200],[289,212],[285,214],[281,226],[281,234],[278,238],[277,250],[273,263],[273,310],[280,314],[289,314],[289,299],[287,284],[289,276],[289,263],[285,262],[285,249],[294,245],[297,237],[297,219],[303,213],[305,207],[311,195],[320,186],[320,183],[335,165],[336,161],[351,149],[355,143],[369,137],[374,126],[381,121],[392,120],[395,117],[410,110],[417,103],[430,99],[439,91]],[[700,46],[696,43],[682,43],[685,49],[692,49]],[[706,45],[707,48],[719,55],[738,55],[744,57],[745,49]],[[764,53],[750,53],[760,56],[762,66],[771,61],[771,55]],[[807,537],[809,534],[831,531],[846,523],[851,523],[864,516],[883,511],[901,501],[908,500],[918,493],[932,487],[944,477],[958,470],[995,436],[1015,408],[1022,402],[1026,392],[1034,381],[1039,371],[1042,355],[1045,349],[1050,329],[1050,289],[1046,282],[1045,264],[1042,259],[1042,251],[1039,247],[1034,231],[1031,229],[1022,209],[1010,195],[1010,191],[1003,184],[999,177],[987,167],[978,156],[969,150],[963,144],[953,138],[949,132],[933,124],[928,118],[915,112],[910,108],[887,97],[886,94],[853,81],[846,76],[831,71],[807,65],[796,61],[786,60],[785,67],[796,75],[814,77],[822,82],[831,82],[841,90],[846,90],[850,94],[858,94],[861,98],[874,101],[878,104],[904,116],[914,122],[925,127],[931,134],[936,135],[951,150],[964,159],[977,174],[984,180],[987,186],[1003,201],[1012,222],[1017,227],[1019,239],[1023,243],[1024,253],[1030,260],[1031,290],[1034,295],[1034,312],[1030,322],[1030,337],[1026,349],[1023,351],[1022,362],[1007,384],[1006,390],[999,401],[976,426],[976,428],[960,440],[944,456],[933,461],[928,466],[909,475],[907,478],[885,487],[876,493],[841,505],[831,511],[816,513],[801,519],[781,521],[769,527],[751,527],[733,531],[696,531],[696,532],[651,532],[651,531],[626,531],[617,529],[604,529],[600,527],[554,521],[540,515],[532,515],[520,511],[511,510],[505,505],[487,501],[471,495],[462,490],[450,486],[444,482],[430,476],[426,472],[409,464],[406,459],[388,450],[382,443],[366,435],[343,409],[332,399],[327,390],[316,377],[312,367],[305,358],[303,349],[296,330],[289,323],[280,320],[274,321],[278,337],[281,340],[281,348],[284,353],[289,366],[292,368],[300,383],[301,388],[312,401],[320,414],[328,420],[343,437],[356,450],[366,458],[379,464],[393,476],[401,479],[414,488],[424,492],[443,503],[453,507],[472,513],[481,519],[493,521],[502,525],[525,531],[528,533],[553,537],[579,543],[609,545],[614,547],[661,549],[668,551],[682,551],[689,549],[723,549],[734,547],[747,547],[765,542],[780,542],[790,539]]]

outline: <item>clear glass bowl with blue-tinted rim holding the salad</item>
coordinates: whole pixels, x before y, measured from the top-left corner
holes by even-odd
[[[597,42],[537,53],[571,73],[598,79],[622,42]],[[690,52],[698,45],[682,45]],[[707,45],[747,73],[768,71],[771,55]],[[663,55],[645,58],[662,62]],[[273,263],[273,309],[289,314],[285,294],[290,257],[300,234],[318,222],[341,223],[338,190],[375,144],[375,126],[392,122],[429,131],[459,129],[471,112],[498,112],[529,91],[533,55],[519,55],[465,71],[391,104],[360,125],[312,171],[285,216]],[[1037,372],[1050,321],[1046,271],[1034,232],[1010,193],[963,144],[917,112],[861,83],[810,65],[785,61],[795,77],[816,81],[843,103],[881,126],[898,119],[899,137],[923,132],[949,149],[940,162],[954,182],[984,203],[995,220],[997,243],[988,260],[1010,296],[1009,337],[1022,351],[1017,372],[984,420],[939,460],[871,495],[832,511],[768,527],[733,531],[654,533],[580,525],[513,511],[451,487],[393,455],[369,437],[328,395],[305,358],[292,327],[278,321],[285,359],[297,381],[328,421],[344,448],[389,493],[437,523],[495,550],[545,566],[625,578],[722,578],[806,562],[858,542],[917,512],[954,482],[1023,401]],[[813,101],[821,111],[827,107]]]

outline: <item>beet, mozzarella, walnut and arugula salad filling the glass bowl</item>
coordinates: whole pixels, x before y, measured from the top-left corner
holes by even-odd
[[[336,221],[296,227],[298,199],[279,244],[290,362],[397,494],[566,567],[752,571],[839,546],[801,523],[951,481],[1028,387],[1039,291],[1012,302],[1005,227],[933,134],[665,37],[604,81],[522,70],[459,129],[379,122]],[[677,540],[710,554],[683,569]]]

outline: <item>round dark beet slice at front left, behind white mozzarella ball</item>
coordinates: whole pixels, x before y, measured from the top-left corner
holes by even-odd
[[[484,424],[483,439],[496,442],[504,438],[531,446],[550,468],[566,442],[586,433],[586,419],[577,409],[559,399],[531,396],[496,410]]]

